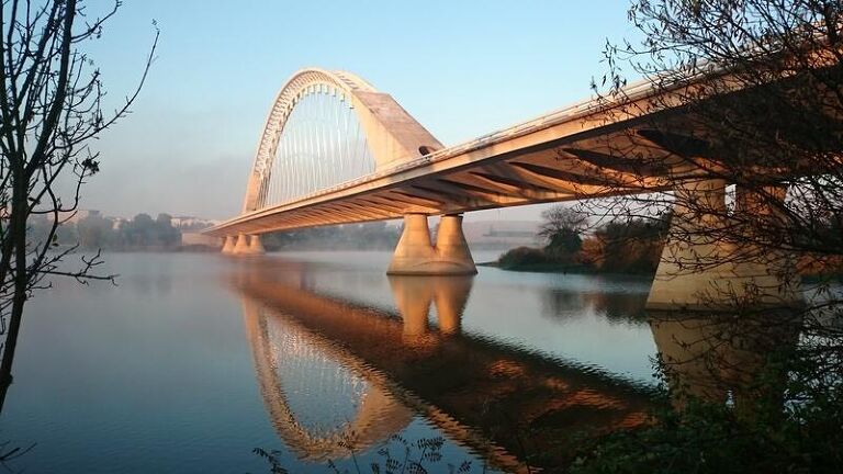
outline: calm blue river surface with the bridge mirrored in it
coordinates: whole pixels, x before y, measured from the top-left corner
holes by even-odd
[[[0,440],[36,443],[13,467],[260,473],[262,448],[292,473],[355,472],[403,459],[398,436],[443,439],[431,472],[552,472],[571,433],[640,422],[649,281],[387,278],[389,259],[110,255],[119,286],[57,282],[30,304],[0,415]]]

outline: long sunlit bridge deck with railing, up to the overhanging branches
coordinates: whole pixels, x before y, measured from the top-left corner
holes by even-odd
[[[653,89],[627,91],[623,104],[588,100],[472,142],[402,162],[296,201],[246,213],[205,230],[262,234],[329,224],[398,218],[664,190],[662,170],[619,158],[663,162],[671,151],[644,127]],[[631,111],[640,111],[633,113]],[[666,114],[668,112],[663,112]],[[673,116],[677,128],[682,117]],[[637,128],[639,127],[639,128]],[[687,126],[686,126],[687,128]]]

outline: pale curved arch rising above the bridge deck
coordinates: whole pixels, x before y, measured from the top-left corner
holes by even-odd
[[[267,116],[246,188],[244,214],[255,211],[266,196],[272,162],[288,119],[296,105],[312,94],[329,94],[355,110],[376,169],[442,148],[392,97],[378,92],[359,77],[345,71],[302,69],[281,88]]]

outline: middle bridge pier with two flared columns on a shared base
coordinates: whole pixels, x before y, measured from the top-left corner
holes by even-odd
[[[462,216],[445,215],[439,223],[437,244],[430,244],[425,214],[404,216],[404,232],[387,274],[475,274],[474,260],[462,234]]]

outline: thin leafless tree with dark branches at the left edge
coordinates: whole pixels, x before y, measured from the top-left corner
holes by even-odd
[[[103,112],[105,91],[85,44],[100,37],[119,7],[114,0],[102,14],[89,14],[82,0],[5,0],[0,7],[0,407],[12,382],[24,305],[49,285],[45,278],[111,279],[95,271],[99,253],[61,264],[75,249],[57,249],[56,230],[99,171],[91,140],[130,112],[153,61],[157,33],[137,88]],[[65,188],[70,191],[63,193]],[[38,215],[52,226],[34,241],[27,223]]]

